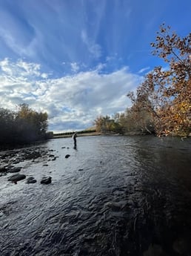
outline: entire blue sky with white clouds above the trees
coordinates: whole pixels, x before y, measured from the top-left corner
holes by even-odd
[[[191,28],[190,0],[0,0],[0,108],[26,103],[49,131],[80,131],[130,107],[161,59],[160,25]]]

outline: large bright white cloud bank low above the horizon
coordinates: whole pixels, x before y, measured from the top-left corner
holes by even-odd
[[[47,111],[50,130],[70,130],[93,125],[96,116],[112,115],[130,106],[126,94],[135,90],[141,76],[122,68],[113,73],[95,70],[50,79],[34,63],[0,62],[0,107],[27,103]]]

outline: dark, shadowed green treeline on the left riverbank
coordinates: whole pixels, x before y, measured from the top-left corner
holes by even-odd
[[[0,145],[16,145],[53,137],[47,133],[47,113],[33,111],[27,104],[18,111],[0,108]]]

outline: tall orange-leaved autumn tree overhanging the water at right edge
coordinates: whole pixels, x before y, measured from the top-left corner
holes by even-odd
[[[157,33],[153,54],[164,59],[165,68],[155,67],[138,87],[136,96],[128,93],[136,111],[137,99],[153,115],[158,135],[188,135],[191,131],[191,33],[181,38],[164,24]]]

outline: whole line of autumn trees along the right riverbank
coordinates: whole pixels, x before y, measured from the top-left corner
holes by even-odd
[[[113,118],[98,116],[97,131],[191,135],[191,33],[181,38],[162,24],[151,46],[164,68],[155,67],[135,93],[127,94],[131,108]]]

